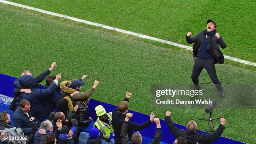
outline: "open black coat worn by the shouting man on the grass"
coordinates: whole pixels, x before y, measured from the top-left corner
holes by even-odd
[[[197,35],[195,35],[194,37],[187,37],[186,35],[186,40],[187,43],[192,44],[193,45],[193,54],[194,54],[194,58],[197,56],[197,53],[200,51],[200,49],[202,48],[202,43],[203,40],[205,38],[206,32],[205,30],[203,30],[202,32],[198,33]],[[215,34],[214,34],[215,35]],[[220,37],[219,39],[216,36],[212,37],[212,47],[211,47],[211,53],[214,56],[214,62],[219,63],[219,64],[224,64],[224,56],[223,53],[220,51],[219,45],[221,48],[225,48],[227,47],[226,43],[224,42],[224,40],[222,39],[222,37]]]

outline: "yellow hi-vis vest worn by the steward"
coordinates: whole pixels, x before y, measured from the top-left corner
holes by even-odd
[[[112,112],[107,113],[107,115],[108,115],[109,121],[111,122],[112,121]],[[105,122],[102,122],[100,120],[100,118],[97,118],[94,125],[97,127],[97,129],[99,129],[99,131],[103,134],[103,137],[105,137],[106,139],[109,139],[110,132],[114,131],[112,124],[109,127],[108,124],[106,124]]]

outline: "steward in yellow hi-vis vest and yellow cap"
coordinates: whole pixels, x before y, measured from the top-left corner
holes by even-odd
[[[114,132],[112,126],[112,112],[107,113],[102,105],[95,107],[95,112],[98,119],[96,120],[94,127],[99,129],[102,139],[109,142],[110,132]]]

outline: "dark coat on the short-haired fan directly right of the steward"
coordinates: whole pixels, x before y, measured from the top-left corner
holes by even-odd
[[[124,99],[124,101],[128,101],[128,99]],[[115,133],[115,144],[122,144],[121,142],[121,129],[122,124],[125,121],[126,114],[121,114],[118,112],[118,109],[114,109],[112,112],[112,124],[113,129]],[[143,122],[142,124],[136,124],[134,122],[129,122],[128,126],[128,137],[131,139],[131,136],[133,135],[133,130],[139,131],[146,127],[148,127],[151,124],[151,120],[147,120],[146,122]]]

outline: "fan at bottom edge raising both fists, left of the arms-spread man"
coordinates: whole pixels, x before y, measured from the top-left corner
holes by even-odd
[[[125,122],[122,125],[121,129],[121,140],[122,144],[141,144],[142,143],[142,137],[139,132],[135,132],[132,136],[132,142],[130,141],[127,130],[129,127],[129,120],[133,117],[133,114],[127,113],[125,117]],[[159,118],[154,118],[154,122],[156,123],[156,134],[153,140],[149,142],[149,144],[159,144],[161,142],[162,138],[162,132],[161,132],[161,124]]]

